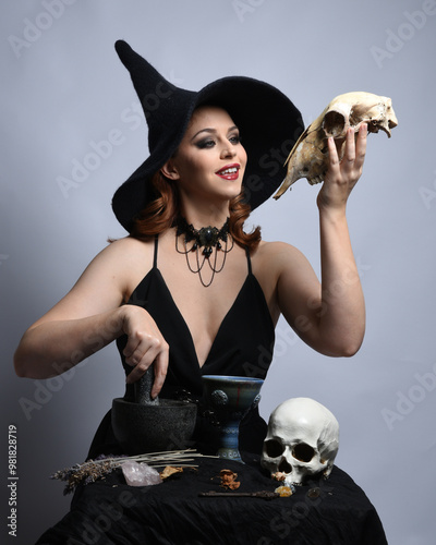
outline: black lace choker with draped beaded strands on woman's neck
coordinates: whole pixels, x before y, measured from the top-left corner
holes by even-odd
[[[211,284],[215,274],[220,272],[223,269],[226,263],[227,254],[232,250],[234,245],[234,241],[232,237],[229,234],[229,218],[227,218],[226,223],[218,229],[216,227],[202,227],[202,229],[194,229],[192,225],[189,225],[187,221],[179,217],[174,226],[175,227],[175,250],[179,254],[184,254],[186,256],[186,264],[191,272],[198,274],[199,281],[202,284],[207,288]],[[179,247],[179,237],[183,234],[183,250]],[[229,247],[229,237],[231,239],[231,246]],[[192,243],[192,244],[191,244]],[[203,249],[203,250],[202,250]],[[215,256],[210,259],[211,254]],[[195,252],[196,256],[196,268],[191,266],[189,259],[189,253]],[[222,263],[217,268],[217,255],[218,252],[223,253]],[[199,256],[199,253],[203,257]],[[204,264],[207,263],[211,270],[210,280],[205,282],[202,276],[202,269]]]

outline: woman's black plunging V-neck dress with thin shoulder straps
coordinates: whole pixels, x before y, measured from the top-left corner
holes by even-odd
[[[272,359],[275,328],[264,292],[252,272],[250,253],[246,251],[247,276],[233,304],[226,314],[203,366],[199,366],[191,331],[158,268],[158,239],[155,240],[153,268],[131,294],[128,304],[145,308],[156,322],[169,344],[169,368],[161,398],[202,397],[202,375],[232,375],[265,378]],[[124,335],[117,340],[125,373],[132,367],[125,363]],[[124,398],[133,400],[133,385],[128,385]],[[196,440],[204,450],[215,448],[210,426],[198,419]],[[240,428],[242,450],[259,453],[266,434],[266,424],[253,409]],[[110,426],[110,413],[96,434],[89,456],[117,450]]]

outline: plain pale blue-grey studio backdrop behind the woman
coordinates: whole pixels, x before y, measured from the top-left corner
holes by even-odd
[[[24,330],[108,238],[125,234],[111,197],[147,152],[145,121],[113,49],[123,38],[181,87],[233,74],[267,81],[306,124],[341,93],[392,98],[399,126],[390,140],[370,136],[348,208],[367,305],[364,344],[351,359],[329,359],[280,322],[261,411],[268,419],[296,396],[327,405],[341,426],[337,464],[366,492],[389,543],[433,544],[436,2],[37,0],[4,3],[0,21],[2,543],[34,543],[68,511],[71,496],[49,475],[83,461],[124,389],[113,344],[57,379],[20,379],[12,367]],[[301,180],[251,221],[319,271],[317,191]],[[10,424],[16,538],[7,526]]]

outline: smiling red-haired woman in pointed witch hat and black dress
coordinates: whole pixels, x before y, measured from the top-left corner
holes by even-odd
[[[328,141],[329,168],[317,197],[319,283],[296,249],[262,241],[258,228],[242,230],[250,209],[284,177],[286,155],[274,158],[288,153],[303,129],[292,102],[246,77],[183,90],[125,43],[117,43],[117,51],[149,128],[150,156],[113,197],[130,235],[97,255],[28,328],[15,353],[16,373],[47,378],[117,340],[128,399],[150,365],[153,397],[183,390],[198,399],[203,373],[265,377],[280,314],[318,352],[353,355],[365,311],[346,205],[362,172],[366,126],[356,141],[348,133],[341,161]],[[259,453],[264,436],[253,410],[241,428],[241,450]],[[108,414],[90,456],[116,451]]]

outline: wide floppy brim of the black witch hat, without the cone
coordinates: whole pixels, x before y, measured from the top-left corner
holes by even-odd
[[[229,76],[205,86],[184,105],[185,112],[171,142],[159,142],[149,157],[116,191],[112,208],[128,232],[153,198],[152,177],[173,156],[195,108],[210,104],[228,111],[240,130],[247,153],[243,185],[251,209],[278,189],[286,175],[284,161],[304,125],[300,111],[276,87],[244,76]]]

